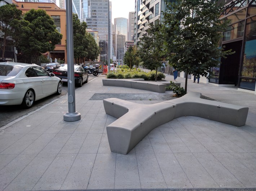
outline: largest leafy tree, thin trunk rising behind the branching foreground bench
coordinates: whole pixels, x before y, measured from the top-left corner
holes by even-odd
[[[221,7],[215,0],[178,0],[169,4],[164,13],[162,33],[167,60],[187,76],[208,77],[211,67],[220,64],[220,58],[231,54],[219,47],[226,23],[219,20]]]

